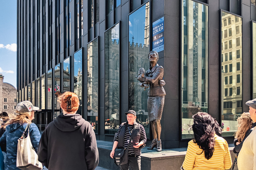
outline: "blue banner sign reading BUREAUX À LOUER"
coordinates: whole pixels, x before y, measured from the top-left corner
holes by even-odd
[[[153,51],[164,50],[164,17],[153,22]]]

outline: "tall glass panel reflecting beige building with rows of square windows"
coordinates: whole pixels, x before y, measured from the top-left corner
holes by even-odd
[[[222,54],[232,52],[236,54],[232,60],[222,61],[221,66],[229,65],[229,71],[221,70],[221,127],[222,136],[233,136],[237,130],[237,118],[242,114],[242,33],[237,34],[236,28],[242,28],[242,18],[222,11],[222,22],[231,18],[231,25],[222,25],[222,31],[232,29],[232,36],[222,39],[222,42],[231,40],[233,45],[229,49],[223,49]],[[238,52],[239,51],[239,52]],[[239,54],[239,55],[238,55]],[[240,76],[241,75],[241,76]],[[229,83],[225,83],[225,77],[229,77]],[[237,90],[237,88],[239,90]],[[239,107],[237,107],[239,104]],[[242,105],[241,105],[242,106]]]

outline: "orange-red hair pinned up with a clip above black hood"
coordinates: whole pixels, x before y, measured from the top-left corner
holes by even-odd
[[[64,111],[73,113],[73,112],[78,110],[79,99],[78,99],[78,96],[75,93],[65,92],[62,95],[58,96],[58,97],[59,97],[58,102],[60,103],[60,106]],[[68,98],[70,98],[70,101],[71,101],[71,107],[70,107],[71,109],[67,108],[68,100],[69,100]]]

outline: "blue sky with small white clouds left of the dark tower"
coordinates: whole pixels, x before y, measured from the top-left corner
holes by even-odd
[[[17,87],[17,1],[0,0],[0,73]]]

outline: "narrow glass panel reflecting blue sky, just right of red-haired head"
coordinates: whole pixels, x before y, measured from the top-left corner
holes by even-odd
[[[83,93],[83,76],[82,76],[82,49],[74,53],[74,93],[79,98],[79,108],[76,114],[82,115],[82,93]]]

